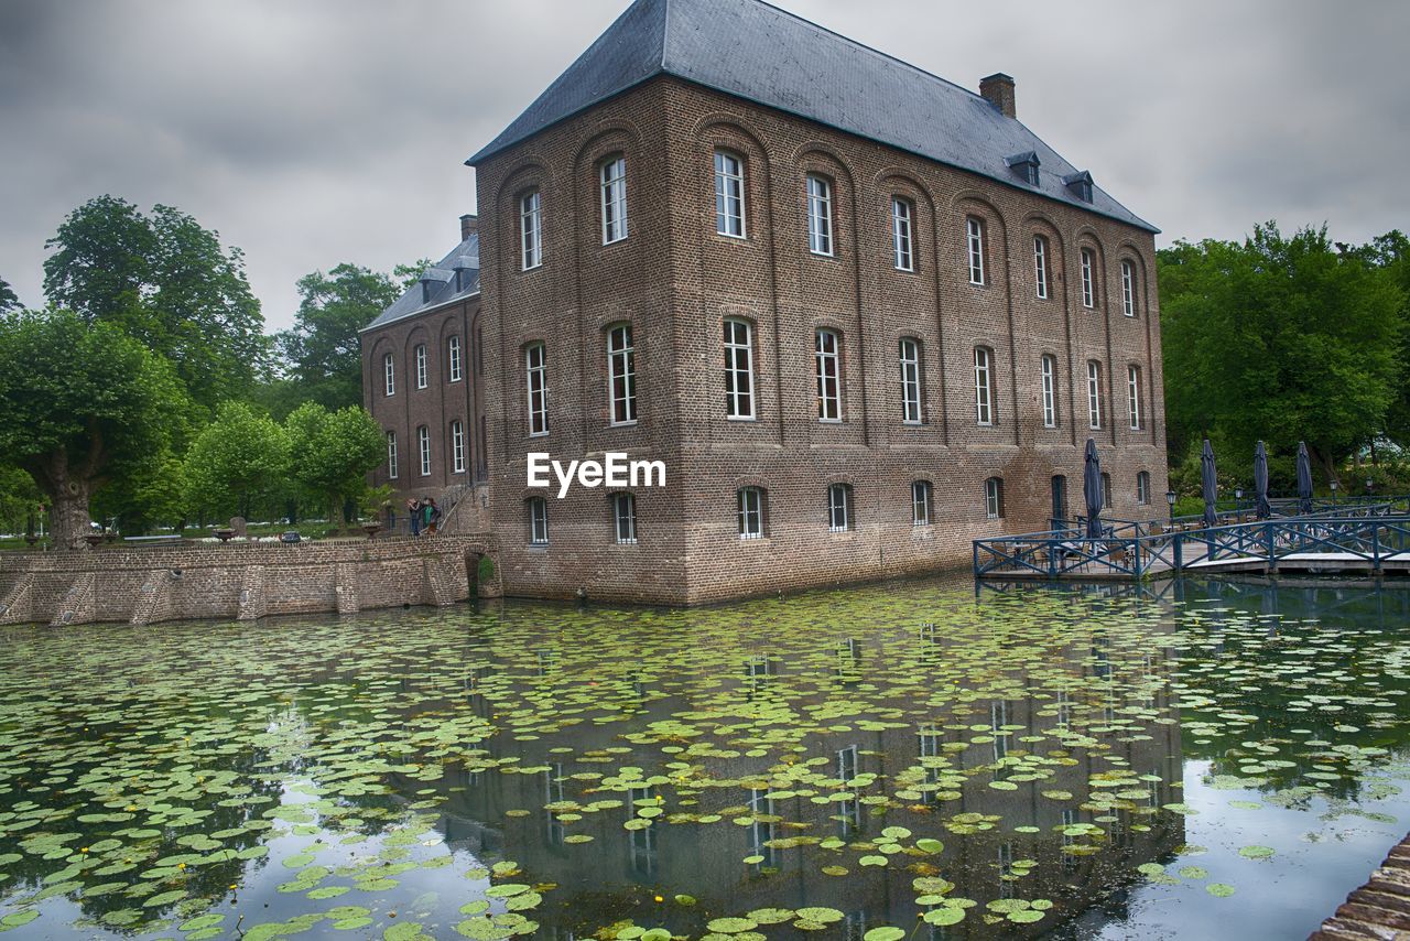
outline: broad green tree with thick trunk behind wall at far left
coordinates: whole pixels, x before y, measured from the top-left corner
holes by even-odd
[[[55,546],[83,545],[92,495],[149,468],[183,408],[171,365],[116,326],[0,316],[0,454],[54,501]]]

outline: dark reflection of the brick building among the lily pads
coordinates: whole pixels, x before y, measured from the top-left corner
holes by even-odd
[[[933,636],[926,641],[922,632],[921,643],[935,643],[936,656],[945,655]],[[880,924],[914,924],[919,893],[912,880],[933,875],[956,885],[950,894],[974,899],[980,906],[1004,897],[1052,899],[1056,909],[1043,921],[1003,925],[1005,937],[1038,935],[1135,879],[1138,865],[1167,861],[1183,842],[1182,818],[1158,813],[1162,804],[1180,800],[1170,787],[1170,782],[1180,779],[1180,727],[1160,683],[1166,664],[1159,653],[1112,650],[1111,643],[1101,632],[1074,641],[1059,657],[1072,664],[1070,673],[1058,680],[1050,667],[1036,679],[1022,669],[1005,670],[1011,680],[1005,688],[1021,694],[976,700],[962,712],[877,731],[859,731],[857,722],[849,722],[850,731],[811,735],[807,753],[799,758],[818,762],[814,770],[829,777],[819,791],[830,787],[847,793],[849,783],[860,782],[853,784],[854,796],[843,800],[819,804],[780,787],[777,779],[770,784],[770,769],[780,759],[774,751],[760,758],[740,753],[691,759],[661,753],[657,743],[620,751],[626,748],[623,731],[699,708],[687,698],[657,694],[643,696],[642,714],[629,724],[585,721],[564,738],[546,734],[516,741],[502,735],[489,745],[494,756],[517,758],[508,767],[523,770],[448,769],[440,783],[447,797],[440,825],[451,848],[470,851],[486,865],[512,859],[525,870],[523,880],[556,883],[553,904],[546,903],[536,918],[560,933],[591,933],[620,918],[654,924],[653,918],[667,910],[671,913],[667,925],[673,930],[699,931],[704,924],[695,924],[689,910],[654,906],[651,900],[656,893],[667,899],[687,893],[698,897],[698,910],[712,917],[760,907],[838,909],[846,913],[847,933],[860,938]],[[874,683],[876,664],[866,664],[866,656],[863,642],[839,642],[830,693],[794,697],[787,705],[801,708],[829,696],[846,698],[863,676]],[[767,708],[773,701],[771,684],[787,680],[787,657],[746,656],[732,688]],[[636,691],[646,693],[640,684]],[[911,703],[894,705],[908,718],[925,711]],[[1135,725],[1110,734],[1098,731],[1129,718],[1131,710],[1138,717]],[[974,725],[987,727],[987,734],[976,734]],[[749,751],[743,739],[754,732],[740,731],[735,751]],[[1042,742],[1022,741],[1034,735],[1042,735]],[[571,753],[554,751],[568,741]],[[1028,749],[1055,759],[1060,755],[1053,752],[1065,751],[1065,742],[1070,745],[1066,749],[1070,763],[1045,766],[1050,776],[1024,780],[1019,759],[1031,755]],[[950,760],[942,767],[926,760],[945,756]],[[694,782],[704,779],[718,786],[692,787],[698,791],[694,794],[678,791],[671,782],[677,760],[688,760],[698,769]],[[957,794],[936,794],[938,789],[949,789],[946,779],[956,776],[946,767],[964,773],[963,784],[955,789]],[[630,790],[599,790],[598,779],[584,777],[613,776],[622,769],[640,769],[640,783]],[[1112,813],[1080,803],[1094,775],[1121,769],[1155,780],[1139,783],[1144,791],[1139,797],[1127,784]],[[995,780],[1011,790],[991,787]],[[407,789],[413,784],[426,786],[420,780],[407,782]],[[1055,800],[1043,791],[1069,791],[1074,797]],[[883,796],[891,799],[891,806],[878,815],[869,799]],[[698,803],[684,803],[682,797]],[[637,830],[623,827],[636,817],[637,807],[657,799],[664,801],[663,817]],[[568,822],[546,810],[546,806],[564,807],[564,801],[587,806],[595,800],[620,800],[622,806],[582,813],[581,820]],[[529,814],[510,817],[508,811]],[[678,813],[716,814],[721,820],[670,822]],[[984,815],[980,825],[993,828],[952,832],[943,822],[955,814]],[[1094,841],[1074,834],[1070,828],[1076,824],[1094,824],[1105,837]],[[856,844],[877,841],[885,827],[912,831],[902,841],[907,845],[933,837],[943,841],[945,849],[929,856],[893,855],[884,868],[857,866],[867,851],[859,851]],[[1017,832],[1019,827],[1031,831]],[[1065,827],[1069,832],[1063,832]],[[592,842],[565,842],[572,834],[589,835]],[[792,839],[798,837],[836,837],[853,846],[839,852],[797,845]],[[1087,844],[1096,846],[1093,855],[1070,852]],[[746,863],[746,858],[754,862]],[[850,872],[830,876],[822,872],[829,865]],[[984,928],[974,913],[959,925],[936,928],[932,937],[974,937]]]

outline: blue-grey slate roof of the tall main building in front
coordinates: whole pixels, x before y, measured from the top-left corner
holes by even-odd
[[[636,0],[470,165],[657,75],[733,95],[1159,231],[979,95],[761,0]],[[1034,151],[1038,186],[1004,158]]]

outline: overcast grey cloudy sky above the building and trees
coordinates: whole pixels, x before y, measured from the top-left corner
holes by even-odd
[[[0,0],[0,278],[113,193],[244,248],[268,329],[295,279],[440,255],[462,161],[627,0]],[[976,87],[1176,238],[1410,230],[1410,3],[780,0]]]

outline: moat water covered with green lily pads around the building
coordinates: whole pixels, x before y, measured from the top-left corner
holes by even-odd
[[[907,581],[3,631],[11,937],[1303,938],[1410,591]]]

